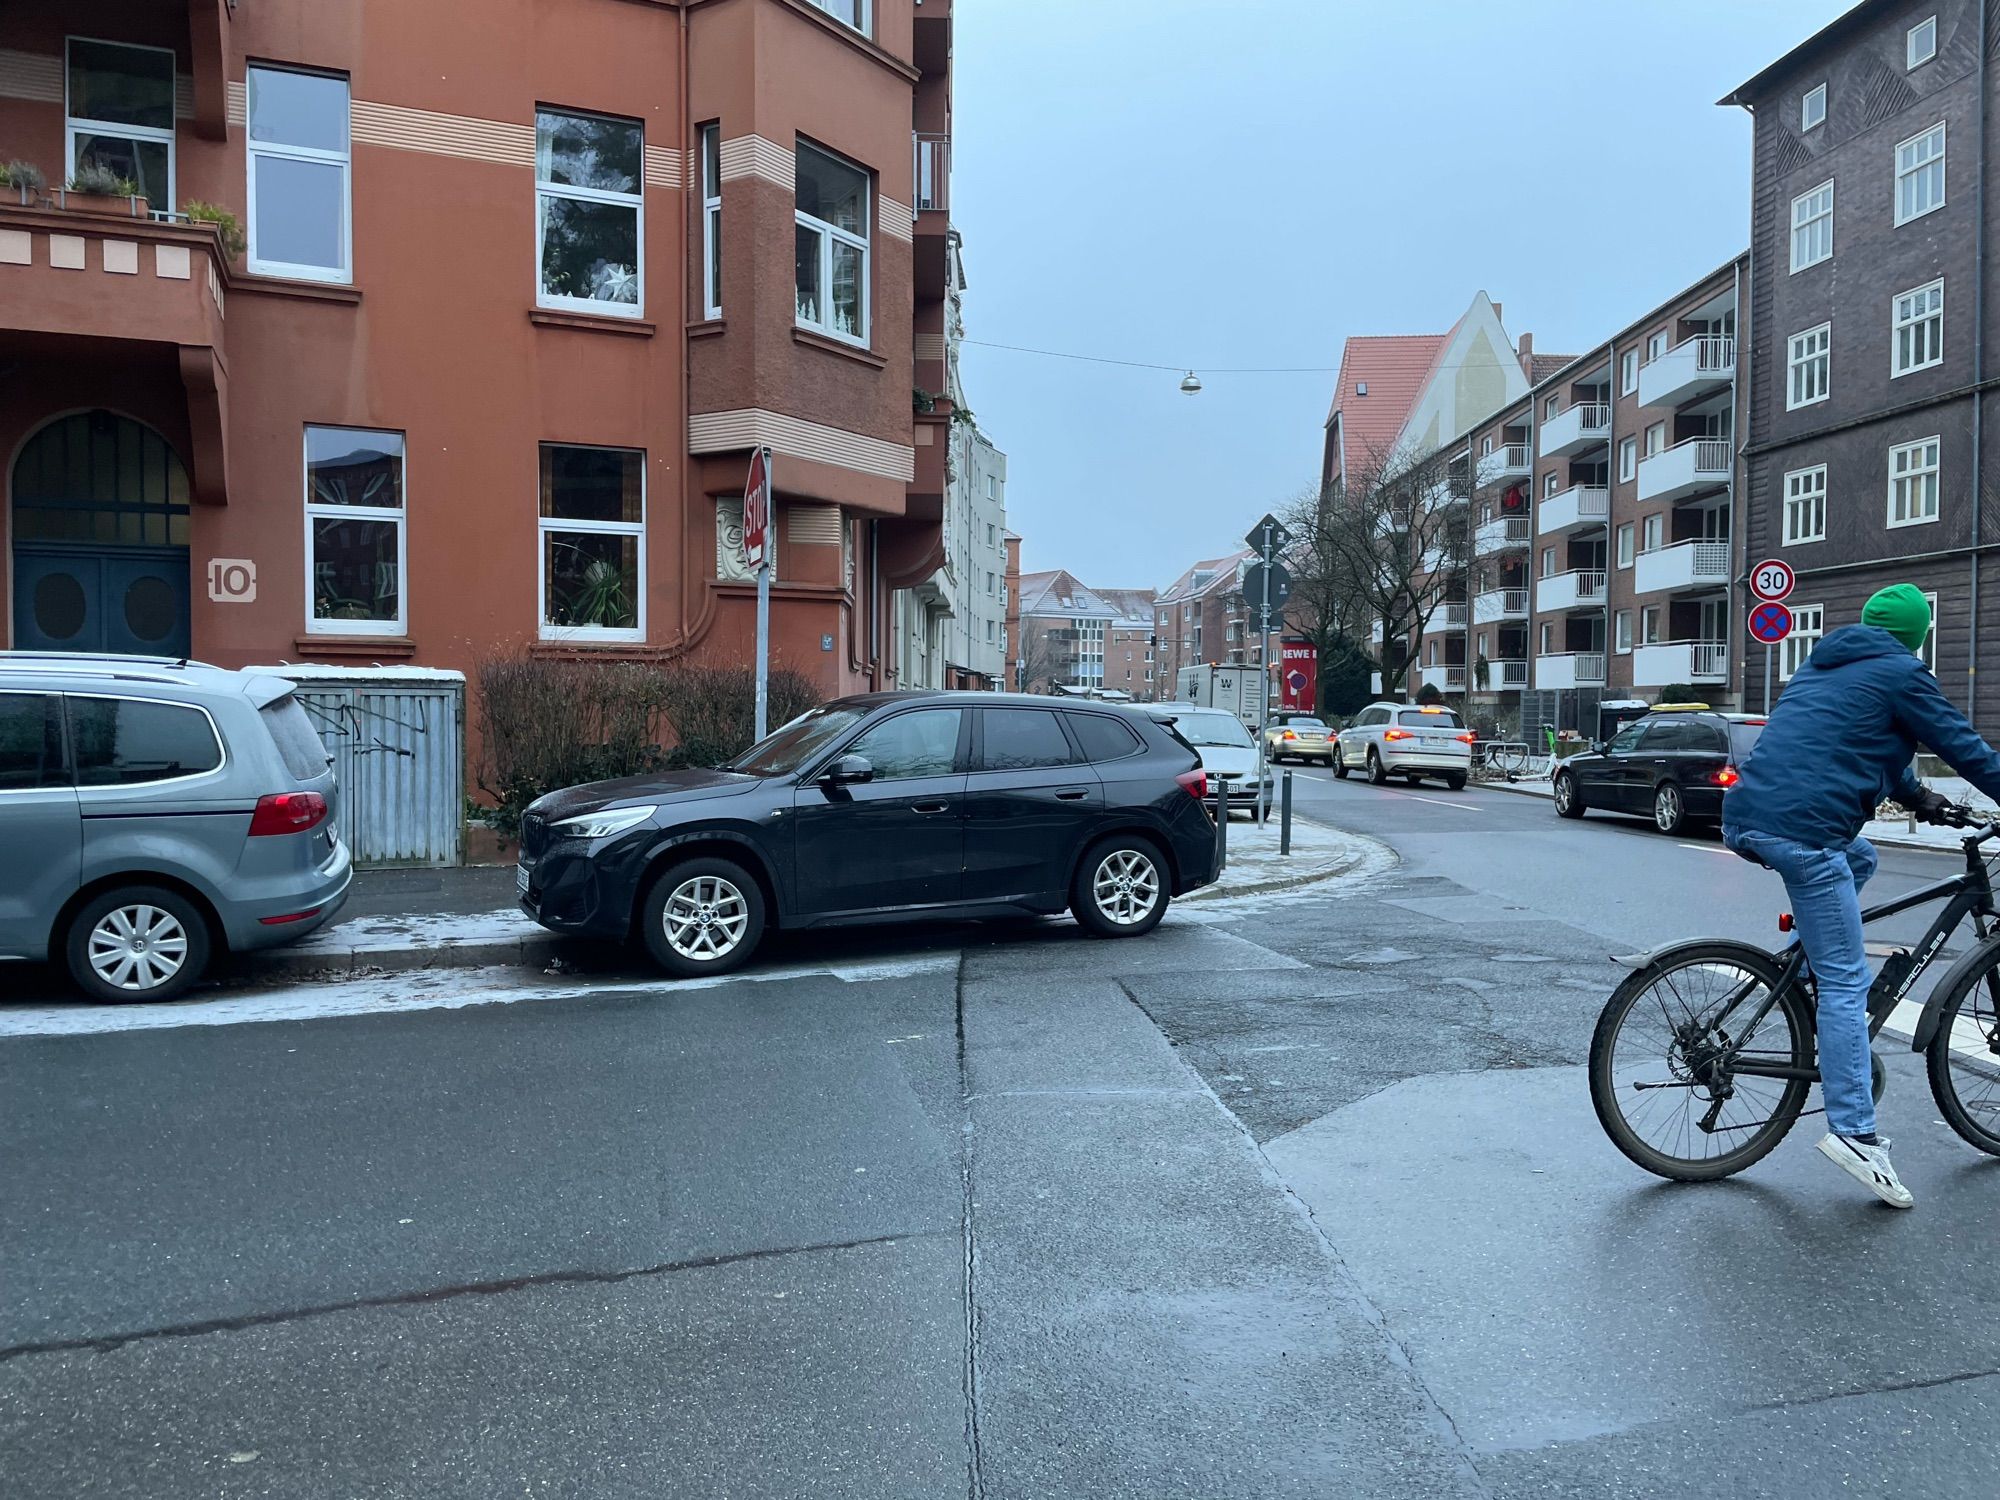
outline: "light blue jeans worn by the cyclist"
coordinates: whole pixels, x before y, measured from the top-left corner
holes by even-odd
[[[1752,854],[1784,880],[1792,922],[1820,986],[1820,1094],[1838,1136],[1874,1132],[1868,1062],[1868,952],[1862,948],[1862,886],[1876,872],[1874,844],[1812,848],[1776,834],[1724,828],[1722,842]]]

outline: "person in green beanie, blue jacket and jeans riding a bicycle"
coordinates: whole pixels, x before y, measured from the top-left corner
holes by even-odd
[[[1860,624],[1834,630],[1792,674],[1722,798],[1722,842],[1784,878],[1818,984],[1820,1154],[1894,1208],[1914,1200],[1874,1120],[1860,888],[1876,852],[1862,824],[1884,798],[1924,822],[1950,806],[1912,774],[1918,742],[2000,802],[2000,756],[1916,654],[1928,638],[1930,600],[1916,586],[1874,594]]]

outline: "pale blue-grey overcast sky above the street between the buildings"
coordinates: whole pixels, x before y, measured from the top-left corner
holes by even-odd
[[[1748,244],[1714,100],[1850,0],[958,0],[964,350],[1022,566],[1160,588],[1320,470],[1348,334],[1580,352]]]

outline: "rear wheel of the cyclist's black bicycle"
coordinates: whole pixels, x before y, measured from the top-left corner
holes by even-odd
[[[1778,992],[1754,1034],[1738,1030],[1780,974],[1756,948],[1688,944],[1612,990],[1590,1038],[1590,1102],[1618,1150],[1662,1178],[1712,1182],[1784,1140],[1812,1084],[1722,1064],[1734,1054],[1812,1066],[1812,1012],[1798,986]]]

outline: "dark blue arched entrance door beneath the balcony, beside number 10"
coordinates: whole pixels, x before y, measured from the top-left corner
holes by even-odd
[[[14,646],[188,654],[188,470],[116,412],[60,416],[14,460]]]

